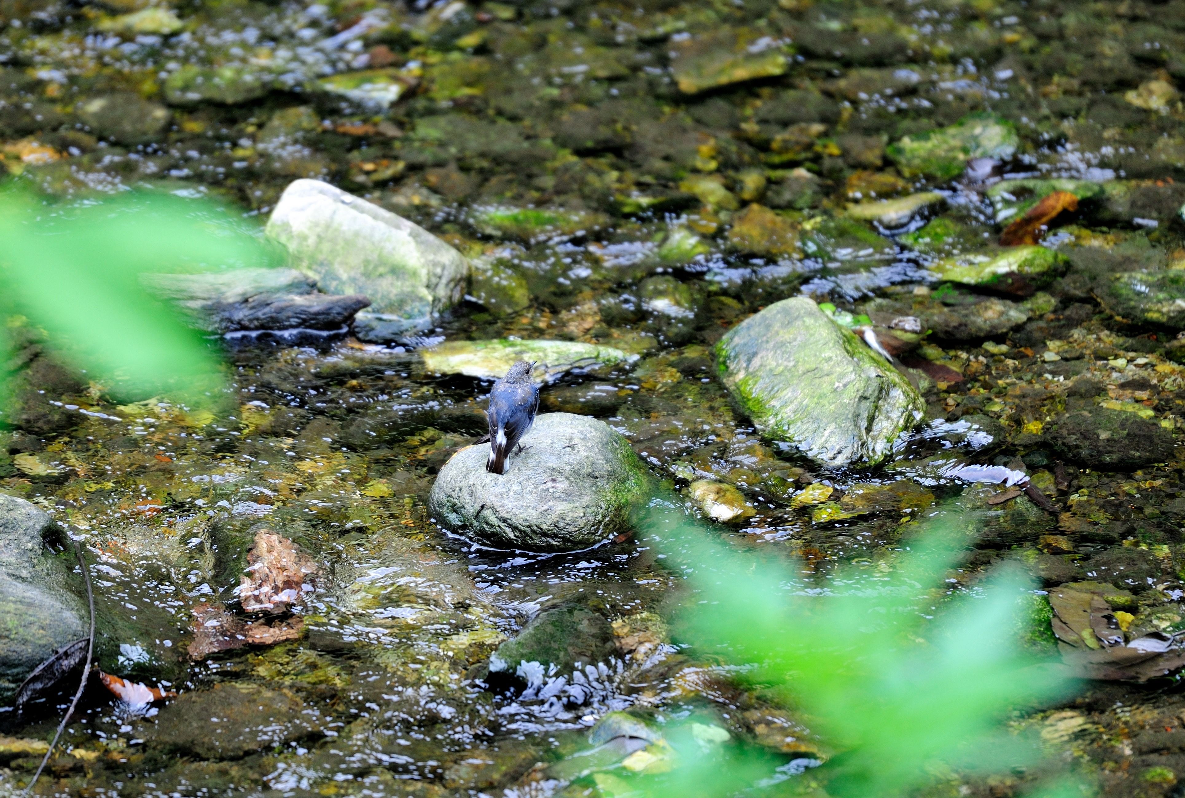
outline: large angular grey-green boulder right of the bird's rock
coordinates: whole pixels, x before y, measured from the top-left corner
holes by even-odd
[[[922,417],[909,381],[806,296],[770,305],[716,346],[719,375],[768,439],[821,465],[876,465]]]

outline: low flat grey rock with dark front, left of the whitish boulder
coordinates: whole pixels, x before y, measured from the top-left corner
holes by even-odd
[[[206,274],[149,274],[148,289],[186,311],[210,332],[339,330],[370,305],[366,296],[334,296],[295,269],[235,269]]]

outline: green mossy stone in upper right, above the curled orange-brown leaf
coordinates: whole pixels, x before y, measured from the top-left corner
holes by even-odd
[[[974,158],[1007,160],[1020,146],[1016,126],[994,114],[971,114],[937,130],[908,135],[885,151],[908,178],[953,180]]]

